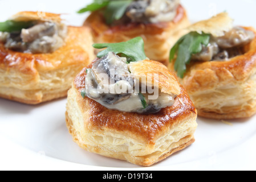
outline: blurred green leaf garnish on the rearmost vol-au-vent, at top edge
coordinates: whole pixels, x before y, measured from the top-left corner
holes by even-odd
[[[78,13],[87,11],[97,11],[104,9],[104,17],[107,24],[113,23],[114,20],[119,20],[125,14],[127,7],[133,0],[94,0],[93,3],[79,10]]]

